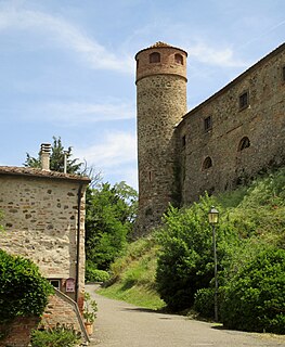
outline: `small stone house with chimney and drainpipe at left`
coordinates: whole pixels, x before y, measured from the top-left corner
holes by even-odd
[[[46,322],[65,320],[82,331],[78,312],[83,306],[85,193],[90,180],[49,170],[47,152],[42,163],[43,169],[0,167],[0,247],[31,259],[57,288]]]

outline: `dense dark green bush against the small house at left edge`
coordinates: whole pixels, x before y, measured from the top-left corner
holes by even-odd
[[[0,323],[41,316],[52,293],[51,284],[31,260],[0,249]]]

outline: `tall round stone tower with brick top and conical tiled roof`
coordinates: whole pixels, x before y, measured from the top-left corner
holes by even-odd
[[[186,113],[186,56],[164,42],[135,55],[141,234],[160,222],[176,194],[174,128]]]

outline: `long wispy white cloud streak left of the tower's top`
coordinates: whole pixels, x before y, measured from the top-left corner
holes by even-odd
[[[8,29],[33,30],[35,36],[42,35],[47,42],[56,42],[57,48],[65,48],[79,54],[91,68],[133,73],[131,56],[125,56],[121,60],[121,56],[118,57],[107,51],[102,44],[62,17],[2,5],[0,8],[0,33],[4,34],[4,30]]]

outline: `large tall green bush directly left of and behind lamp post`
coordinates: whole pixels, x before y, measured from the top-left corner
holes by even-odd
[[[157,290],[171,310],[192,307],[194,295],[209,287],[213,278],[212,232],[208,223],[209,197],[191,208],[170,208],[158,233]],[[220,209],[220,208],[219,208]],[[219,266],[236,235],[221,222],[216,228]],[[226,242],[225,242],[226,241]],[[221,274],[221,269],[219,269]]]

